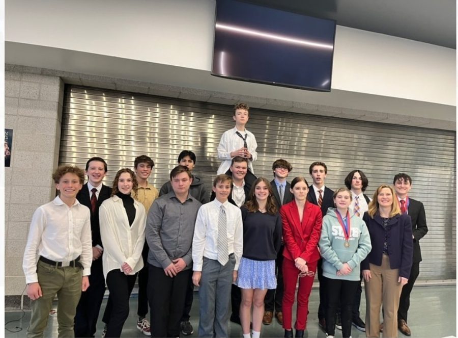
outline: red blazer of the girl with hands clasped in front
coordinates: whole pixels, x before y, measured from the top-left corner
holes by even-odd
[[[296,201],[293,200],[280,208],[283,223],[283,256],[294,261],[297,257],[306,262],[316,262],[320,259],[318,241],[321,236],[323,216],[318,205],[305,202],[302,224]]]

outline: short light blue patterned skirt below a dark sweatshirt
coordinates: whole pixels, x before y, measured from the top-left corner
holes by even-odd
[[[253,261],[242,257],[235,284],[241,289],[276,289],[275,261]]]

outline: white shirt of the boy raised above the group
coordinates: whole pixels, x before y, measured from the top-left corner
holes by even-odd
[[[231,167],[231,152],[243,148],[243,140],[236,134],[237,130],[237,127],[234,127],[224,132],[224,134],[221,136],[221,140],[219,141],[218,145],[218,159],[222,160],[222,162],[218,168],[218,171],[216,172],[218,175],[225,174],[226,171]],[[245,129],[244,132],[239,133],[242,134],[243,137],[245,137],[245,134],[247,135],[246,145],[248,151],[251,154],[251,160],[248,160],[248,168],[254,174],[253,162],[257,159],[256,139],[254,138],[253,133],[248,132],[247,129]]]

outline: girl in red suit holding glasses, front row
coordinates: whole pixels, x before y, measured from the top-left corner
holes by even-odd
[[[308,183],[304,177],[291,182],[294,200],[280,209],[283,224],[283,328],[284,336],[292,337],[294,293],[298,276],[296,337],[303,337],[307,325],[308,297],[320,258],[318,241],[322,213],[319,206],[307,201]]]

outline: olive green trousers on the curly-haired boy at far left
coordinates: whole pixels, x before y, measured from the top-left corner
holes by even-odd
[[[37,273],[43,296],[30,303],[32,315],[27,328],[27,337],[43,337],[52,300],[56,294],[58,295],[59,337],[74,337],[76,305],[81,297],[81,268],[56,268],[39,261]]]

